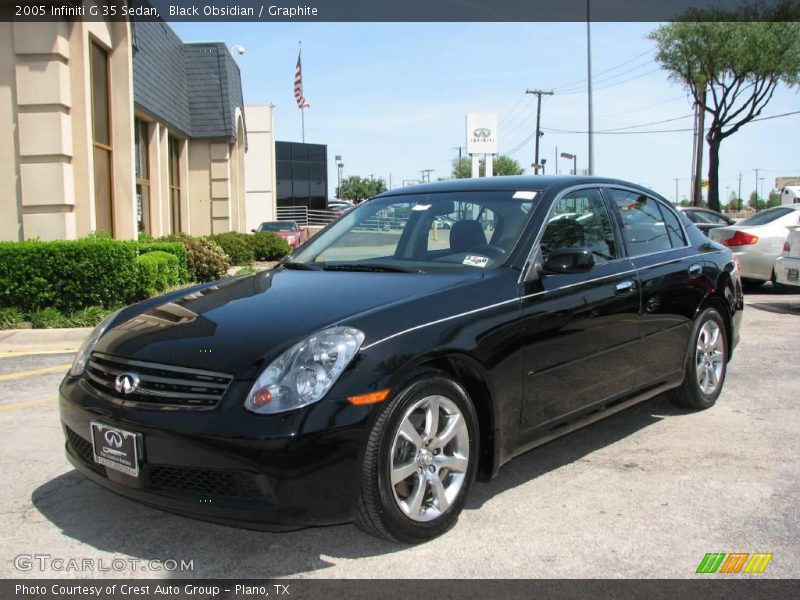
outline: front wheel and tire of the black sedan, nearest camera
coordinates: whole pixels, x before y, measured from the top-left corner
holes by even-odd
[[[356,526],[408,544],[441,535],[464,507],[478,448],[464,388],[438,371],[419,374],[382,407],[370,432]]]

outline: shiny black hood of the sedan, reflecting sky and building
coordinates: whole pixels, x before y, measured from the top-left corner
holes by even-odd
[[[263,271],[150,301],[115,323],[95,351],[249,378],[266,366],[263,359],[324,327],[481,276]]]

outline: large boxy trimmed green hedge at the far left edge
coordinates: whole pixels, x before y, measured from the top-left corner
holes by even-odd
[[[0,305],[23,312],[129,304],[137,296],[135,242],[0,242]]]

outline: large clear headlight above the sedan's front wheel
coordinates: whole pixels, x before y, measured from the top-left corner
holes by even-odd
[[[352,327],[331,327],[298,342],[259,375],[245,408],[275,414],[318,402],[363,342],[364,333]]]

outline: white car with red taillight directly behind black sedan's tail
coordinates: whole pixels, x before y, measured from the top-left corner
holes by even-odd
[[[733,250],[742,280],[756,286],[774,280],[775,259],[792,225],[800,225],[800,204],[768,208],[735,225],[712,229],[709,237]]]

